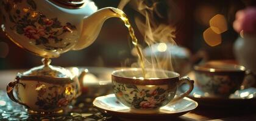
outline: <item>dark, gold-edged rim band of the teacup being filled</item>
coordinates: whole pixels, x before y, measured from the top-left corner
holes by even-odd
[[[152,70],[151,68],[146,68],[146,71]],[[174,83],[179,81],[179,73],[168,71],[168,70],[161,70],[164,73],[171,73],[174,77],[163,77],[163,78],[154,78],[154,79],[141,79],[141,78],[133,78],[133,77],[123,77],[117,76],[117,73],[122,71],[141,71],[141,68],[124,68],[121,70],[113,71],[112,73],[112,81],[119,82],[119,83],[126,83],[126,84],[135,84],[135,85],[166,85],[169,83]],[[160,71],[160,70],[154,70]]]

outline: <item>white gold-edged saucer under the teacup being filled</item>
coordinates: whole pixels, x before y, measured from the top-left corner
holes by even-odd
[[[96,97],[93,105],[122,120],[160,120],[182,116],[196,109],[198,104],[194,100],[184,97],[172,105],[163,106],[160,108],[159,113],[140,114],[131,113],[129,107],[123,105],[116,99],[115,94],[108,94],[107,96]]]

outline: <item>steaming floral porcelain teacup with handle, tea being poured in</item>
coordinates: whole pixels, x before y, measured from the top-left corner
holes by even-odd
[[[182,99],[193,90],[193,80],[166,70],[146,69],[146,79],[141,68],[113,71],[113,92],[119,102],[130,107],[133,113],[158,113],[160,107]],[[177,87],[187,83],[188,91],[176,96]]]

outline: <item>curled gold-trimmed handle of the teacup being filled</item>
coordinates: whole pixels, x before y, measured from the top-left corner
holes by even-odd
[[[180,99],[183,99],[183,97],[188,96],[188,94],[190,94],[191,91],[193,90],[193,88],[194,88],[194,80],[191,80],[190,77],[188,77],[188,76],[181,77],[179,82],[178,82],[179,87],[183,83],[187,83],[190,88],[187,91],[185,91],[185,93],[182,93],[182,94],[180,94],[180,96],[177,96],[174,99],[172,99],[170,103],[174,103],[174,102],[177,102]]]

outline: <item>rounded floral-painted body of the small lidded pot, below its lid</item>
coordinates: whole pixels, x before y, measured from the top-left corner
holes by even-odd
[[[19,83],[23,83],[24,86],[15,86],[16,97],[32,111],[61,111],[77,95],[76,83],[54,84],[34,80],[20,80]]]

